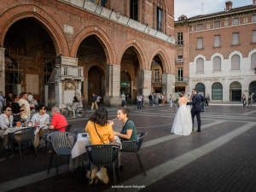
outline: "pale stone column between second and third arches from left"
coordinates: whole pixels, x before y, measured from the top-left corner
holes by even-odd
[[[104,103],[109,107],[119,107],[122,104],[120,95],[120,66],[107,65],[106,69],[106,96]]]

